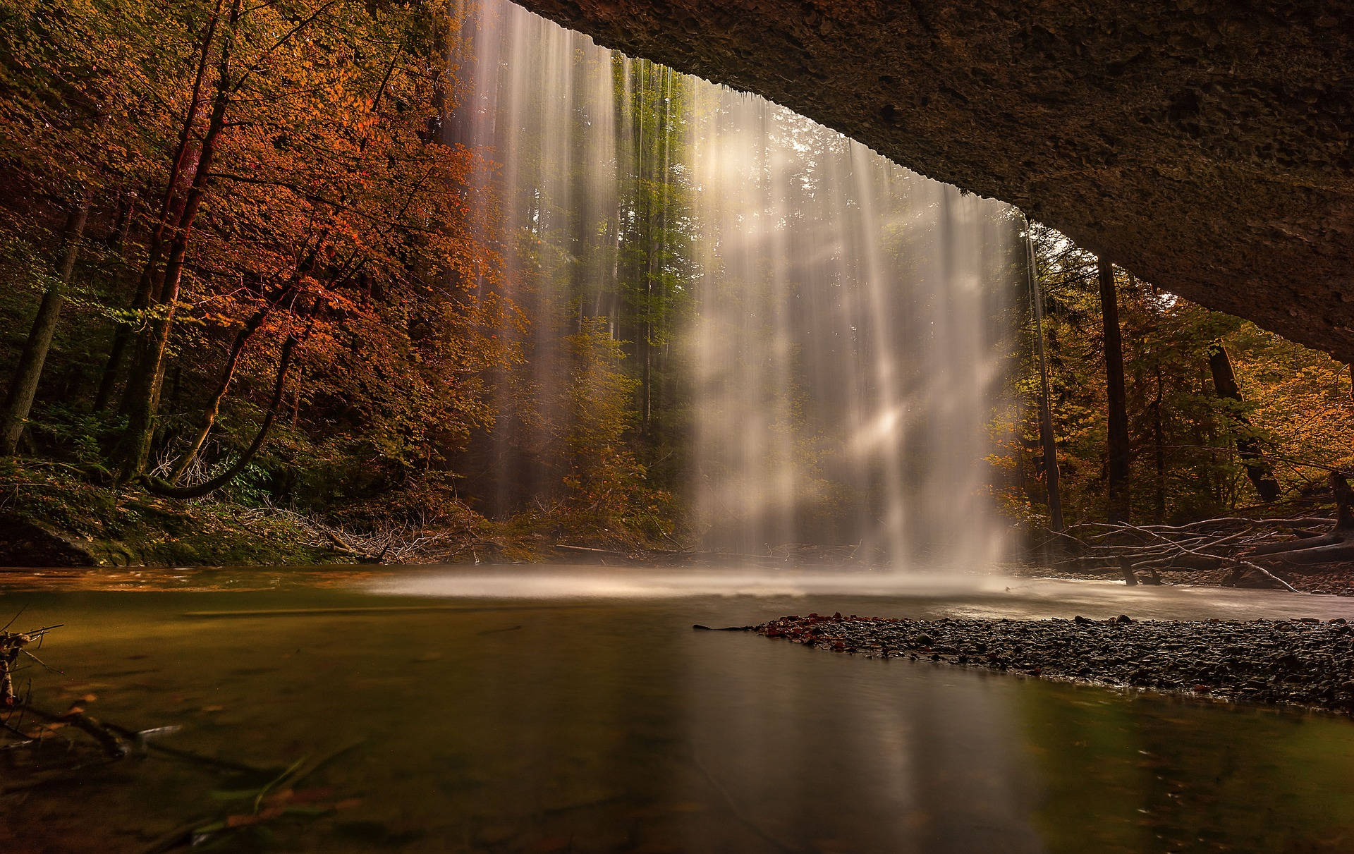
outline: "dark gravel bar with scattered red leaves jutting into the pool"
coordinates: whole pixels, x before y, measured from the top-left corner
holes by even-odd
[[[1343,619],[1136,621],[788,616],[754,627],[834,652],[986,667],[1158,692],[1354,713]]]

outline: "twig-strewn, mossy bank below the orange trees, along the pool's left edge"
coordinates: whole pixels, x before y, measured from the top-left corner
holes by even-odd
[[[0,566],[173,567],[352,563],[661,562],[659,531],[540,506],[493,521],[464,505],[410,522],[380,505],[329,517],[92,483],[61,463],[0,460]]]

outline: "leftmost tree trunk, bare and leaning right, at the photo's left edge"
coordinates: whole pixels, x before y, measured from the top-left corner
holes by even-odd
[[[23,436],[23,428],[32,411],[32,399],[38,394],[42,367],[51,349],[51,337],[57,332],[61,306],[66,300],[65,288],[70,284],[76,259],[80,256],[80,240],[84,237],[84,226],[89,219],[89,189],[83,189],[80,202],[66,217],[60,275],[47,284],[47,290],[42,294],[38,315],[32,318],[32,329],[28,332],[28,340],[24,341],[19,364],[15,367],[14,379],[5,395],[4,411],[0,413],[0,455],[14,456],[19,449],[19,437]]]

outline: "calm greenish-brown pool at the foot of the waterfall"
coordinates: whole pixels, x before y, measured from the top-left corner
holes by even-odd
[[[83,697],[265,769],[347,748],[297,785],[322,808],[213,850],[1354,850],[1346,719],[691,628],[811,610],[1328,619],[1351,600],[580,567],[0,572],[4,619],[20,606],[15,628],[65,624],[42,651],[62,673],[24,674],[46,706]],[[141,851],[250,812],[237,785],[129,759],[0,796],[0,851]]]

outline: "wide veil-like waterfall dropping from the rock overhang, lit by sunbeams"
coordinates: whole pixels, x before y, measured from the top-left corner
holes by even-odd
[[[505,0],[467,4],[458,26],[454,133],[486,160],[486,227],[535,325],[505,334],[538,409],[569,417],[548,392],[571,382],[562,341],[604,329],[639,388],[635,430],[680,460],[708,548],[999,558],[987,457],[1020,269],[1007,207]],[[505,387],[501,410],[521,394]],[[546,422],[504,414],[494,441],[544,447],[525,433]],[[520,501],[558,453],[500,456]]]

